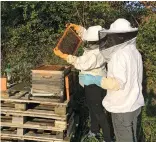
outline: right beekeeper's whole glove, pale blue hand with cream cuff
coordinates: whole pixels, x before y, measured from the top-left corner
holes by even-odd
[[[120,89],[120,81],[113,77],[85,75],[84,85],[96,84],[103,89],[117,91]]]

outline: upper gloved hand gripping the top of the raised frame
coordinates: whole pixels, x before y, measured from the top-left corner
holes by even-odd
[[[69,24],[66,24],[66,27],[68,26],[72,27],[81,38],[83,37],[83,34],[86,31],[86,29],[80,25],[69,23]]]

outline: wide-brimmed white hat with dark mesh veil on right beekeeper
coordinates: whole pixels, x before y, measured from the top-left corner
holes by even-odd
[[[130,22],[119,18],[110,29],[99,31],[99,48],[107,61],[118,49],[131,44],[136,39],[138,28],[132,28]]]

